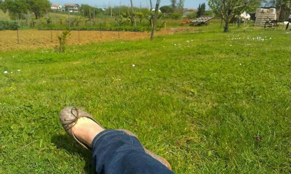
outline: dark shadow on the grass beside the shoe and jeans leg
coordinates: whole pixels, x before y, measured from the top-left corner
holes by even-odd
[[[65,149],[68,153],[72,154],[72,156],[78,154],[83,157],[85,160],[84,171],[87,174],[95,174],[94,168],[91,163],[92,153],[79,146],[79,144],[73,142],[74,140],[68,135],[54,135],[51,138],[51,142],[58,149]]]

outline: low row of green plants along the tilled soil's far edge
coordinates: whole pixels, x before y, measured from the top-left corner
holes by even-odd
[[[151,30],[151,28],[149,28],[149,30],[147,30],[147,27],[141,27],[141,26],[136,26],[136,27],[132,27],[132,26],[110,26],[110,27],[105,27],[105,26],[101,26],[101,28],[99,26],[89,26],[89,27],[71,27],[71,28],[39,28],[38,30],[63,30],[63,29],[69,29],[69,30],[80,30],[80,31],[98,31],[98,30],[102,30],[102,31],[149,31]]]

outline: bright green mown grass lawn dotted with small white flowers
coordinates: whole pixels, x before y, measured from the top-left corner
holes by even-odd
[[[134,132],[176,173],[290,173],[291,34],[217,26],[0,52],[0,173],[93,173],[65,106]]]

